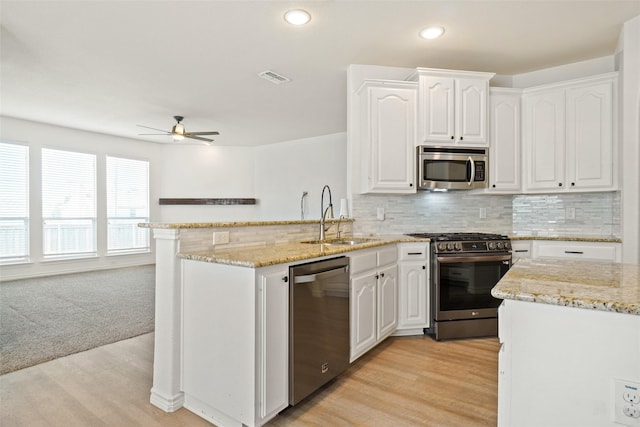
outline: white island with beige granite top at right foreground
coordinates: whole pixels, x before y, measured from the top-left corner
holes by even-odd
[[[639,280],[637,265],[600,261],[521,259],[509,270],[492,291],[504,299],[499,426],[619,425],[616,380],[640,383]]]

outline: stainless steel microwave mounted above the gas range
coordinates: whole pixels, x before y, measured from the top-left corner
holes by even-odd
[[[473,190],[488,186],[485,148],[418,146],[419,190]]]

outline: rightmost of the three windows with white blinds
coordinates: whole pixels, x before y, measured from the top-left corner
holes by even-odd
[[[108,253],[149,250],[149,162],[107,156]]]

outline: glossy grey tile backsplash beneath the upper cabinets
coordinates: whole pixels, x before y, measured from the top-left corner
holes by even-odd
[[[384,221],[377,219],[384,210]],[[354,233],[476,231],[620,237],[620,193],[488,195],[457,191],[354,195]],[[570,218],[574,213],[574,218]]]

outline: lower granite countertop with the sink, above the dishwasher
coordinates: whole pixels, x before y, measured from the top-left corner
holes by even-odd
[[[355,245],[331,245],[321,243],[278,243],[254,246],[227,247],[206,251],[179,253],[178,257],[195,261],[258,268],[295,261],[305,261],[330,255],[344,254],[366,248],[374,248],[399,242],[428,242],[409,236],[386,236],[379,238],[345,237],[343,240],[363,240]]]

